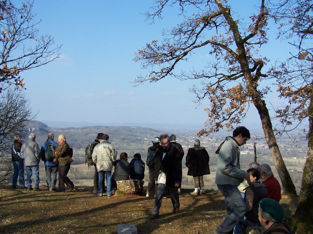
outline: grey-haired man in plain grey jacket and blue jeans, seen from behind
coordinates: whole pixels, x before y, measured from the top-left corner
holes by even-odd
[[[32,188],[32,174],[34,177],[34,191],[40,191],[39,189],[39,162],[40,162],[40,148],[35,142],[36,135],[31,133],[28,136],[28,140],[22,145],[21,155],[25,159],[26,166],[26,181],[27,191],[33,190]]]

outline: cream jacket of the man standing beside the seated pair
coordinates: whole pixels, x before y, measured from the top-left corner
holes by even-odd
[[[107,140],[101,140],[95,146],[92,153],[92,161],[96,164],[98,172],[112,171],[115,160],[116,153],[114,146]]]

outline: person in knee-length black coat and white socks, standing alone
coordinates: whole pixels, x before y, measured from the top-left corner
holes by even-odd
[[[198,195],[198,187],[200,187],[199,193],[202,194],[204,190],[203,175],[210,174],[209,168],[209,154],[204,147],[200,146],[200,141],[195,140],[194,147],[188,149],[186,156],[186,167],[188,168],[187,175],[193,176],[194,192],[191,195]]]

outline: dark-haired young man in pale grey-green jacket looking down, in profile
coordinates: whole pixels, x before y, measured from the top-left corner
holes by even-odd
[[[233,131],[233,137],[226,137],[216,151],[218,161],[215,183],[225,197],[227,214],[224,221],[214,230],[215,234],[233,233],[233,227],[247,212],[237,186],[246,175],[239,165],[239,146],[246,144],[248,139],[250,139],[249,130],[239,126]]]

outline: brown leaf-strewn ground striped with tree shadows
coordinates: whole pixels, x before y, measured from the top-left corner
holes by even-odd
[[[180,212],[172,214],[171,199],[163,199],[158,219],[150,219],[153,197],[114,195],[96,197],[92,187],[54,193],[42,188],[27,192],[0,188],[0,233],[115,233],[118,224],[134,224],[139,234],[203,234],[223,221],[224,198],[218,191],[192,196],[182,189]],[[283,198],[284,199],[284,198]],[[295,202],[286,209],[294,212]],[[285,208],[284,207],[284,208]]]

